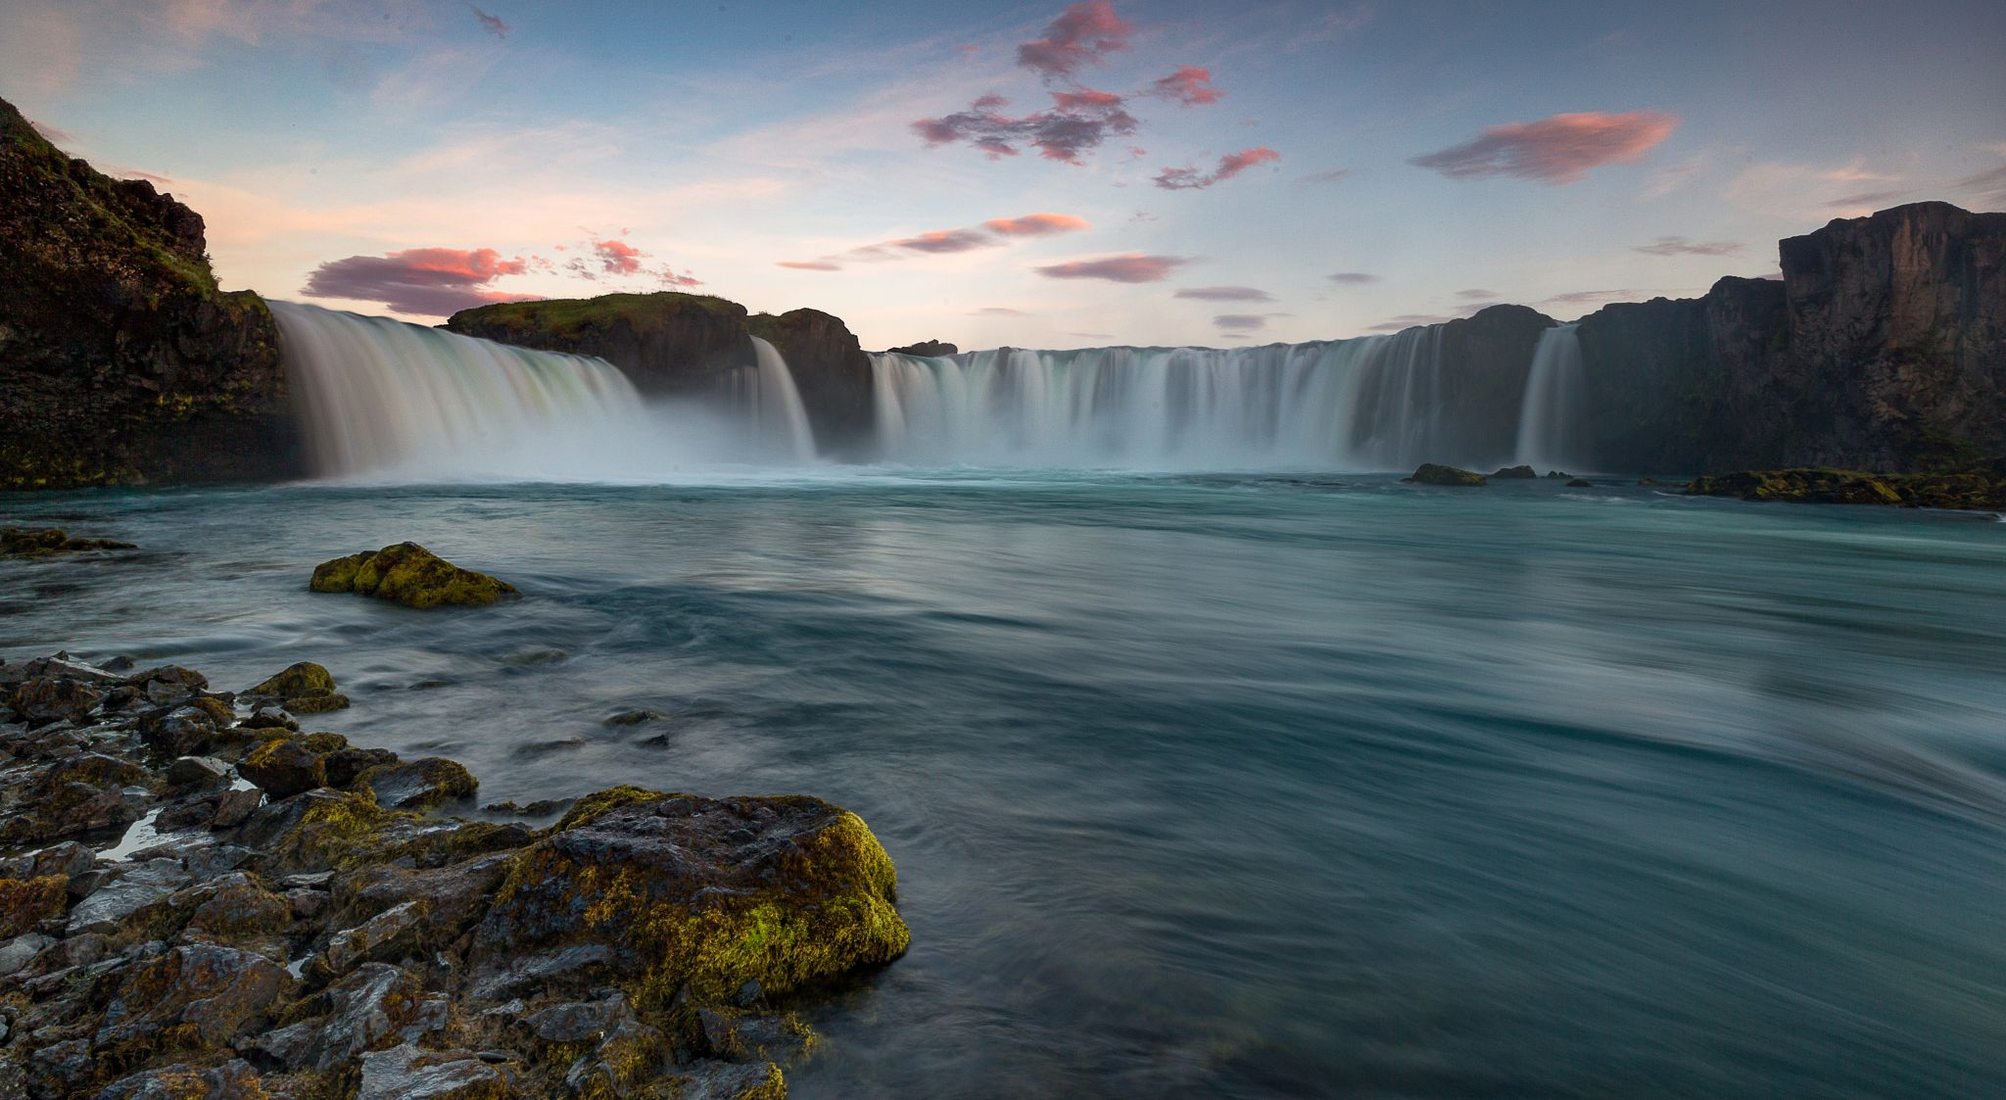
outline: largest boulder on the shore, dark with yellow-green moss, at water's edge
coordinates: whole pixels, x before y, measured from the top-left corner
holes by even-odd
[[[604,947],[636,1004],[664,1006],[680,990],[786,996],[905,953],[897,871],[855,813],[812,797],[610,795],[516,857],[477,966]]]

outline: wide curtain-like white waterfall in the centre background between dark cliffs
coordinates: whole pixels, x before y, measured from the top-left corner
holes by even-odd
[[[873,355],[883,458],[971,466],[1412,470],[1502,458],[1472,444],[1452,369],[1438,325],[1224,351]]]

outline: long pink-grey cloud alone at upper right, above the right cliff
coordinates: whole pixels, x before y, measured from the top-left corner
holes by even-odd
[[[1601,165],[1637,163],[1651,147],[1671,136],[1677,124],[1675,116],[1655,110],[1555,114],[1537,122],[1490,126],[1462,145],[1414,157],[1410,165],[1450,179],[1521,177],[1575,183]]]

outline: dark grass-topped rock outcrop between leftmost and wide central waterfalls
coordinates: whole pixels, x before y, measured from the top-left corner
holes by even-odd
[[[871,434],[871,357],[839,317],[816,309],[748,317],[734,301],[674,291],[512,301],[453,313],[445,327],[483,339],[598,355],[642,393],[704,393],[752,365],[760,337],[786,357],[824,454],[849,454]]]

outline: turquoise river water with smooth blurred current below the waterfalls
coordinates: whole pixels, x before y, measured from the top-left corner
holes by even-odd
[[[913,951],[800,1098],[2006,1092],[1990,518],[961,474],[0,520],[144,546],[0,562],[0,654],[319,660],[327,727],[483,799],[859,811]],[[403,538],[526,598],[305,592]]]

